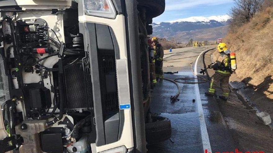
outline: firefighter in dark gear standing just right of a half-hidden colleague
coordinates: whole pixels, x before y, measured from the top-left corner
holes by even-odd
[[[156,79],[159,80],[159,82],[163,81],[163,56],[164,56],[164,51],[163,47],[161,44],[159,44],[157,37],[152,38],[154,50],[156,52],[155,56],[155,74],[156,74]]]

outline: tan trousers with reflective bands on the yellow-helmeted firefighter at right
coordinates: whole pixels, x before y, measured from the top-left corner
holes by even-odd
[[[223,91],[223,96],[228,97],[228,95],[230,93],[230,89],[228,86],[229,78],[230,78],[230,76],[221,75],[219,73],[213,74],[211,76],[211,81],[209,82],[208,93],[213,95],[215,93],[215,89],[217,87],[217,84],[220,83],[220,87]]]

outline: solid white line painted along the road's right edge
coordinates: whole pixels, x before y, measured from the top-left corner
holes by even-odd
[[[195,66],[194,66],[195,74],[197,74],[197,62],[199,60],[199,57],[205,51],[203,51],[202,53],[200,53],[199,56],[196,59]],[[196,78],[195,82],[198,82],[197,75],[195,75],[195,78]],[[204,151],[207,150],[208,152],[212,152],[211,151],[210,142],[209,142],[209,138],[208,138],[208,130],[207,130],[207,125],[206,125],[205,118],[204,118],[204,112],[203,112],[203,108],[202,108],[202,101],[201,101],[201,97],[200,97],[198,83],[195,83],[195,94],[196,94],[196,101],[197,101],[197,109],[198,109],[198,113],[199,113],[199,121],[200,121],[200,129],[201,129],[201,137],[202,137],[202,143],[203,143],[203,150]]]

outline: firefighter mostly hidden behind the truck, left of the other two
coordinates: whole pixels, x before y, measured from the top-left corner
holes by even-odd
[[[155,84],[157,83],[156,81],[156,76],[155,76],[155,56],[156,52],[153,48],[152,45],[152,40],[149,38],[148,39],[148,47],[149,47],[149,65],[150,65],[150,80],[151,80],[151,89],[153,90]]]

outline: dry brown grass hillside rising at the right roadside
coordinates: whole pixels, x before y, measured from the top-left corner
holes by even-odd
[[[236,53],[240,81],[273,99],[273,7],[268,7],[223,39]],[[215,53],[217,55],[218,53]]]

